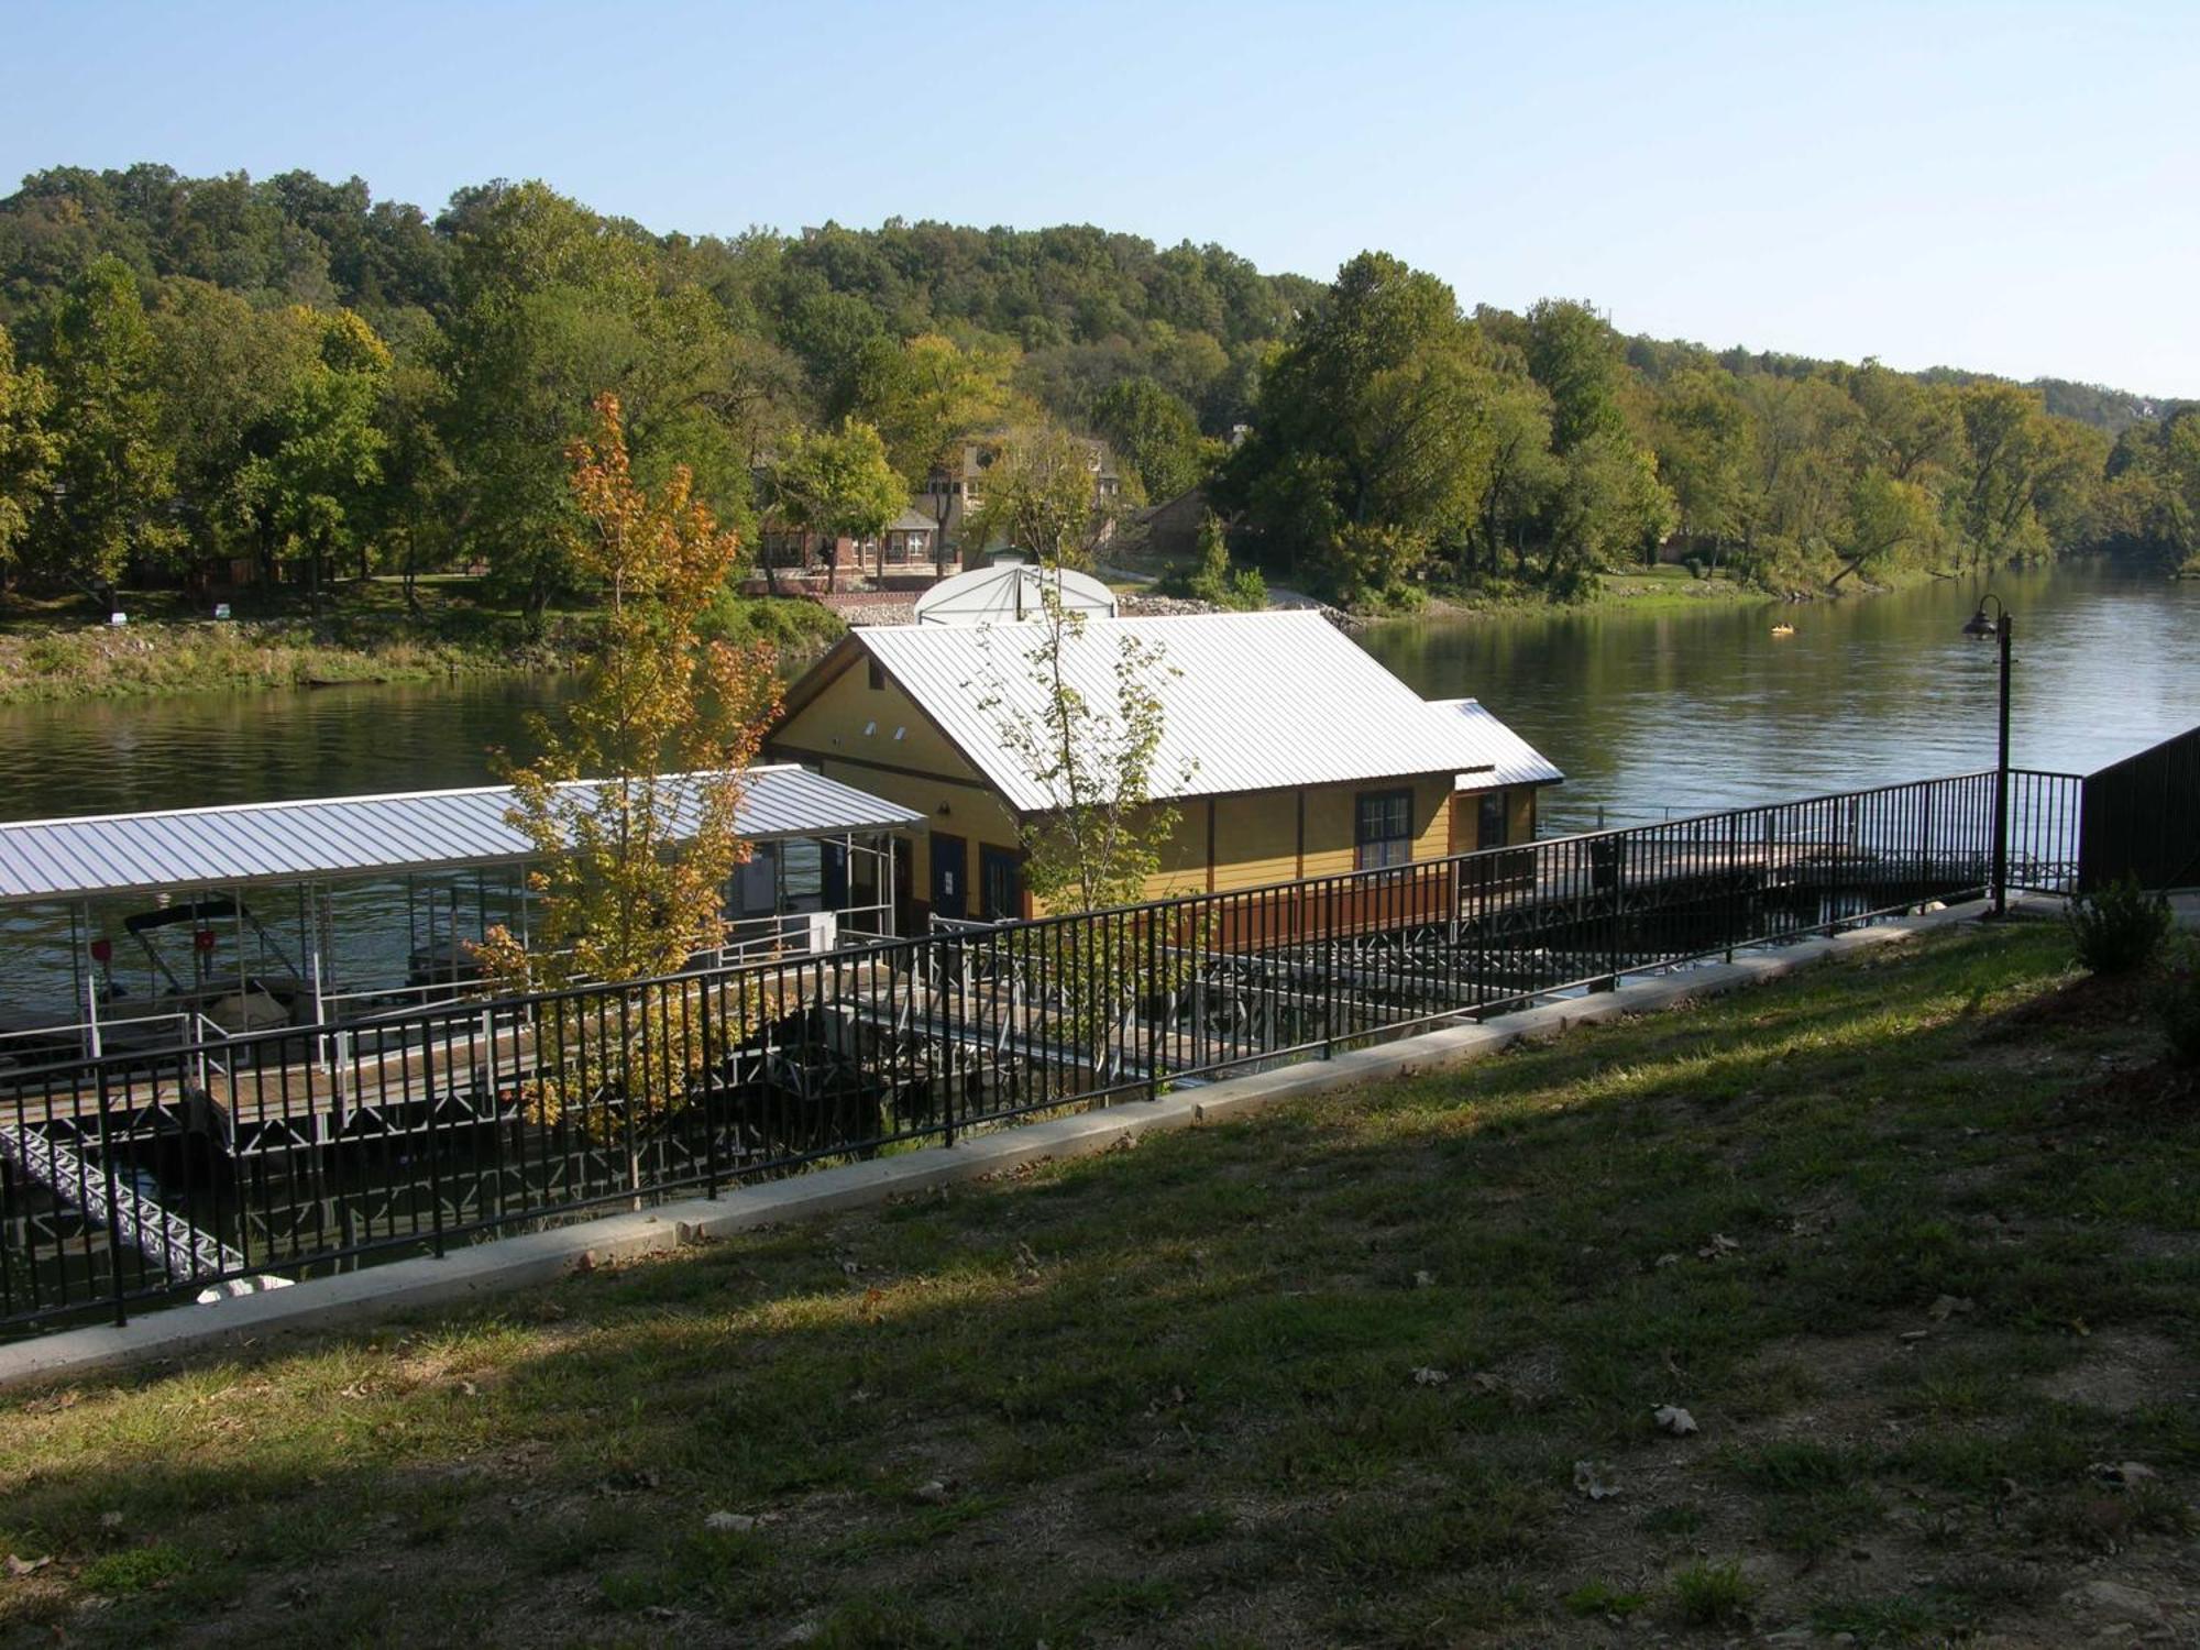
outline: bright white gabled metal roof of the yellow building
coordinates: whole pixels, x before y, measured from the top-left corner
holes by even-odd
[[[1045,715],[1047,693],[1030,667],[1036,627],[900,625],[851,638],[1014,807],[1043,812],[1060,803],[1032,779],[1003,730],[1036,726]],[[1320,614],[1089,618],[1065,640],[1063,673],[1096,715],[1113,713],[1126,638],[1162,649],[1166,662],[1151,682],[1162,697],[1157,794],[1225,796],[1470,770],[1481,777],[1494,768],[1496,717],[1432,706]],[[1177,785],[1186,768],[1190,781]]]

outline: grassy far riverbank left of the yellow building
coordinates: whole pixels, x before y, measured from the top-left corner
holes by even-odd
[[[594,631],[587,612],[526,616],[462,579],[425,581],[416,605],[394,581],[343,585],[319,625],[288,603],[213,620],[167,592],[123,609],[123,627],[73,605],[0,614],[0,704],[563,671]],[[816,603],[728,596],[717,629],[807,656],[840,620]]]

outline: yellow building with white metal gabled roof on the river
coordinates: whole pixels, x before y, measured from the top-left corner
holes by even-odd
[[[909,920],[1032,915],[1027,821],[1058,807],[1019,755],[1043,724],[1036,625],[849,631],[785,700],[768,750],[922,812]],[[1124,645],[1162,700],[1153,790],[1179,810],[1148,898],[1443,858],[1536,834],[1562,779],[1474,700],[1430,702],[1311,612],[1089,618],[1063,673],[1104,713]]]

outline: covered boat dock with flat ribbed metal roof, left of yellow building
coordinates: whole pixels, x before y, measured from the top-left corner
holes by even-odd
[[[660,783],[684,834],[678,792],[695,783]],[[68,935],[44,1001],[0,1003],[0,1063],[460,994],[471,942],[497,924],[528,933],[535,845],[513,805],[508,785],[480,785],[0,823],[0,915],[66,911]],[[924,823],[796,763],[750,768],[737,807],[750,860],[728,889],[724,944],[700,961],[891,937],[893,845]]]

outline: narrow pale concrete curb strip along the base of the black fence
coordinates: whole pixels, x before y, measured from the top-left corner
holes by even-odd
[[[2061,911],[2061,900],[2022,898],[2011,900],[2011,906],[2026,913],[2055,913]],[[497,1239],[451,1250],[442,1261],[394,1261],[330,1278],[310,1278],[290,1289],[147,1311],[121,1329],[106,1324],[24,1340],[0,1346],[0,1388],[81,1379],[187,1355],[235,1353],[246,1346],[266,1349],[277,1335],[376,1320],[414,1307],[482,1300],[548,1283],[603,1261],[662,1254],[682,1243],[882,1203],[889,1197],[979,1179],[1047,1157],[1107,1151],[1122,1140],[1157,1129],[1188,1129],[1221,1118],[1241,1118],[1296,1096],[1465,1065],[1520,1041],[1553,1038],[1575,1025],[1602,1025],[1628,1014],[1652,1014],[1692,999],[1760,986],[1833,957],[1976,922],[1982,913],[1982,902],[1965,904],[1852,928],[1830,939],[1738,953],[1731,964],[1654,975],[1610,992],[1423,1032],[1331,1060],[1302,1060],[1243,1078],[1181,1087],[1159,1100],[1124,1100],[1074,1118],[968,1135],[953,1146],[926,1146],[900,1157],[821,1168],[726,1192],[717,1199],[695,1197],[660,1203],[638,1214],[614,1214],[550,1232]],[[2200,915],[2200,902],[2196,902],[2193,915]]]

